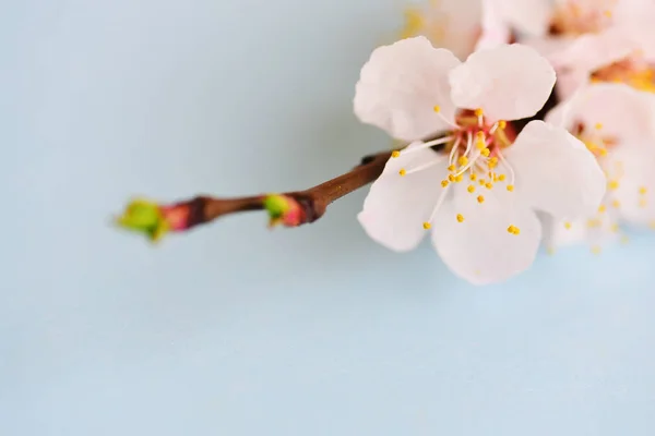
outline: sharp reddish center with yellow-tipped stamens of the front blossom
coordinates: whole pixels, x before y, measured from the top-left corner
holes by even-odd
[[[514,170],[502,155],[502,149],[513,144],[515,133],[508,126],[505,121],[489,122],[481,109],[461,110],[455,122],[452,123],[441,114],[441,108],[436,106],[437,112],[444,122],[450,124],[451,130],[444,136],[430,141],[402,152],[394,152],[393,158],[415,153],[417,150],[442,145],[443,149],[434,155],[434,159],[427,161],[416,168],[401,169],[401,177],[422,171],[434,165],[443,164],[448,159],[448,177],[440,181],[441,193],[430,218],[424,222],[424,228],[429,229],[437,213],[445,201],[449,189],[457,183],[466,183],[466,191],[473,201],[478,204],[485,203],[485,191],[493,190],[498,184],[504,184],[509,192],[514,191]],[[478,190],[481,190],[479,192]],[[462,214],[455,216],[457,222],[464,222]],[[510,225],[508,232],[519,234],[517,227]]]

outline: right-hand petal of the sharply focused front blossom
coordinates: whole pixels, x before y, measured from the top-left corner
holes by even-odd
[[[585,145],[562,128],[532,121],[505,154],[515,173],[516,193],[556,218],[597,210],[606,179]]]

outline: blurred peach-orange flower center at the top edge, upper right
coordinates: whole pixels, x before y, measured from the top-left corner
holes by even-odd
[[[550,21],[551,35],[580,36],[598,33],[612,23],[616,0],[570,0],[557,7]]]

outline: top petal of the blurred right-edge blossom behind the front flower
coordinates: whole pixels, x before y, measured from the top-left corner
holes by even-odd
[[[562,111],[567,117],[562,123]],[[655,108],[650,94],[620,83],[592,84],[546,116],[546,122],[568,130],[582,123],[585,129],[600,128],[598,135],[615,142],[655,137]],[[655,141],[655,140],[654,140]]]

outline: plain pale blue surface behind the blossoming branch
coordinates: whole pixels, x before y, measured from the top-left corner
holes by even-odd
[[[157,250],[132,194],[309,186],[393,0],[0,7],[0,434],[652,435],[655,238],[469,287],[355,220],[233,217]],[[8,68],[9,66],[9,68]]]

